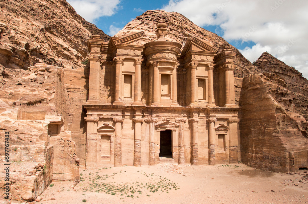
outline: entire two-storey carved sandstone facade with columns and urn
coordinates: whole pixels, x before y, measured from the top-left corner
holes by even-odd
[[[167,33],[88,40],[87,167],[238,161],[235,53],[196,37],[181,52]]]

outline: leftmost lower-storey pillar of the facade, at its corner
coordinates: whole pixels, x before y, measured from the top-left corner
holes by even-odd
[[[86,166],[97,167],[97,122],[99,117],[85,117],[87,122]]]

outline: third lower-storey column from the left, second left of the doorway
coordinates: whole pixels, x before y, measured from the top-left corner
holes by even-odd
[[[135,122],[134,166],[141,167],[141,123],[143,118],[133,118]]]

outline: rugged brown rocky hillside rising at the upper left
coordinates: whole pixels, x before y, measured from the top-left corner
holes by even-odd
[[[0,64],[6,68],[38,62],[76,68],[87,57],[92,34],[109,39],[65,0],[0,2]]]

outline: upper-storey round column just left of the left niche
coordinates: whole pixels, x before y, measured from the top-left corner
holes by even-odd
[[[115,67],[115,101],[113,104],[123,104],[121,100],[122,97],[122,63],[123,58],[115,57],[114,58],[116,67]]]

